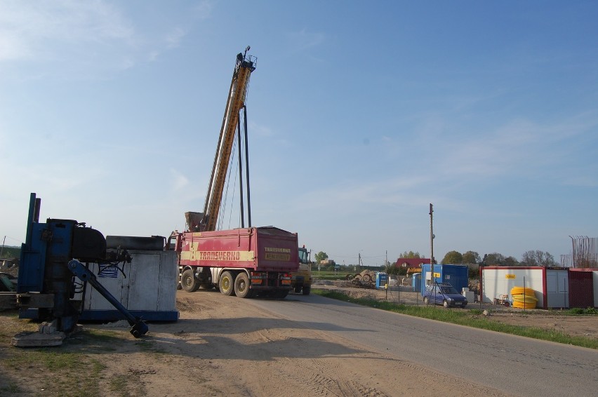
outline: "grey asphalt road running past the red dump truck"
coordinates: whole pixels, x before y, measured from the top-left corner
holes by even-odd
[[[521,396],[597,396],[598,351],[288,295],[247,300],[298,327],[331,332],[373,351]]]

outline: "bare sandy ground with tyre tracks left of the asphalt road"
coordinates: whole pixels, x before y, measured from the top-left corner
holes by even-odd
[[[147,396],[503,395],[324,331],[283,325],[217,292],[179,291],[178,308],[178,323],[152,324],[152,340],[171,358],[140,358]],[[130,360],[115,354],[108,371]],[[185,372],[173,376],[175,368]]]

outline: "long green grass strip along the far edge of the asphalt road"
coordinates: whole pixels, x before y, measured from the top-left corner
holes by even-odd
[[[597,339],[586,337],[574,337],[566,335],[564,332],[559,332],[556,330],[544,330],[542,328],[525,327],[523,325],[508,325],[505,323],[500,323],[498,321],[491,321],[486,317],[479,317],[482,313],[480,309],[447,310],[444,308],[429,306],[411,306],[406,304],[396,304],[392,302],[385,302],[368,298],[354,298],[343,294],[343,292],[338,291],[314,289],[312,290],[312,292],[323,297],[329,297],[336,300],[343,300],[345,302],[361,304],[363,306],[368,307],[375,307],[376,309],[382,309],[386,311],[394,311],[395,313],[407,314],[408,316],[430,318],[431,320],[444,321],[445,323],[453,323],[458,325],[466,325],[467,327],[481,328],[482,330],[491,330],[511,335],[519,335],[523,337],[531,337],[534,339],[548,340],[550,342],[573,344],[575,346],[582,346],[590,349],[598,349]],[[571,313],[571,315],[574,315],[574,313]]]

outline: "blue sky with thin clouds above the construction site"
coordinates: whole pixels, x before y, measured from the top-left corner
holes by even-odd
[[[235,55],[254,226],[336,262],[598,236],[594,1],[0,1],[0,238],[201,211]],[[238,200],[238,198],[237,198]],[[225,228],[238,227],[236,216]]]

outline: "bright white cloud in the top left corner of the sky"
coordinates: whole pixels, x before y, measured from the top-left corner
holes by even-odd
[[[89,78],[157,60],[187,35],[166,20],[147,29],[135,22],[135,8],[126,7],[102,0],[0,1],[0,63],[29,62],[46,77]],[[21,74],[37,73],[26,70]]]

